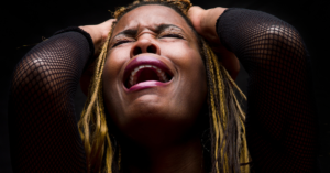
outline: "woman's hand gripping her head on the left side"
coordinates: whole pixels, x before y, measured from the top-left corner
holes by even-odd
[[[116,19],[109,19],[100,24],[79,26],[91,36],[95,46],[95,56],[100,54],[102,45],[107,41],[108,34],[114,21]]]

